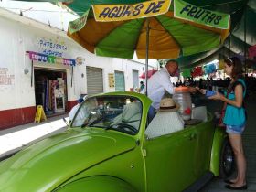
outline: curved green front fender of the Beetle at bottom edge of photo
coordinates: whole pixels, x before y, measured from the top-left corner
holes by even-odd
[[[93,191],[93,192],[137,192],[130,184],[113,176],[89,176],[72,181],[55,192]]]

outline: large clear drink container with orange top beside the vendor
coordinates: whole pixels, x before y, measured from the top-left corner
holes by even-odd
[[[187,87],[177,87],[173,95],[173,100],[180,105],[179,113],[183,120],[191,119],[192,101]]]

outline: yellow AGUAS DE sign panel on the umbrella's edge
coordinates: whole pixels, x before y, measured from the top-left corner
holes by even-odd
[[[152,0],[133,5],[92,5],[96,21],[123,21],[165,14],[171,0]]]

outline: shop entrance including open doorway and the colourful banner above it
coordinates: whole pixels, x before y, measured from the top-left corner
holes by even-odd
[[[77,61],[27,51],[34,77],[36,107],[42,105],[47,116],[68,112],[67,70],[73,70]],[[31,80],[31,86],[33,80]]]

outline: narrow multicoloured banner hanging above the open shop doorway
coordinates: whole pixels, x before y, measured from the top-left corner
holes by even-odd
[[[39,62],[48,62],[48,63],[63,64],[63,65],[69,65],[69,66],[76,65],[75,59],[58,58],[55,56],[49,56],[49,55],[45,55],[45,54],[37,53],[33,51],[27,51],[27,53],[29,54],[29,59],[37,60]]]

